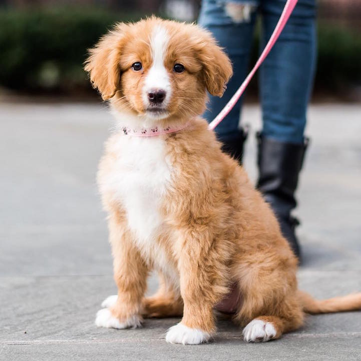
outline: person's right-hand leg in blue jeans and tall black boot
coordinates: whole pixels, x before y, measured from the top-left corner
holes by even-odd
[[[283,0],[262,0],[261,47],[283,10]],[[306,142],[303,136],[316,55],[315,0],[299,0],[260,69],[263,129],[258,137],[258,188],[276,213],[283,235],[299,255],[294,234],[294,192]]]

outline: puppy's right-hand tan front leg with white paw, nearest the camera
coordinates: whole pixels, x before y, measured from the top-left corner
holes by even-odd
[[[199,344],[207,342],[215,332],[213,307],[227,288],[221,257],[217,259],[212,240],[197,231],[187,233],[178,263],[183,318],[168,330],[166,341]]]

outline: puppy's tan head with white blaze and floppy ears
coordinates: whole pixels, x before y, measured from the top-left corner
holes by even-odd
[[[116,25],[90,50],[85,70],[116,110],[154,120],[201,114],[206,90],[221,97],[232,75],[207,31],[154,17]]]

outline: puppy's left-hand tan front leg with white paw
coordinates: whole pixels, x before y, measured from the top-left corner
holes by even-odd
[[[107,308],[98,311],[95,322],[101,327],[135,328],[142,321],[141,306],[148,269],[119,213],[109,218],[109,239],[118,295],[109,296],[102,303]]]

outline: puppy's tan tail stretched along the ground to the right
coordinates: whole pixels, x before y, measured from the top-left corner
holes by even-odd
[[[317,300],[310,294],[298,291],[298,296],[306,313],[331,313],[361,310],[361,292],[346,296]]]

